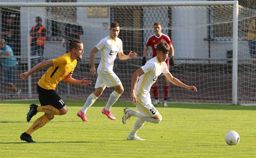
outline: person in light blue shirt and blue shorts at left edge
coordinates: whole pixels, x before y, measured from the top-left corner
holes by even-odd
[[[13,56],[12,48],[6,45],[4,39],[0,39],[0,56]],[[12,91],[16,93],[15,95],[18,96],[21,91],[21,89],[17,89],[15,86],[18,61],[14,57],[0,59],[3,67],[4,83],[6,83],[8,87],[11,87]]]

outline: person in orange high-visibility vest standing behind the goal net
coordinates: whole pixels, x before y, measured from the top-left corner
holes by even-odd
[[[40,58],[38,58],[37,63],[42,61],[42,56],[44,54],[44,42],[46,41],[46,30],[44,26],[41,24],[42,19],[41,17],[36,17],[36,25],[32,27],[29,34],[31,36],[30,39],[30,49],[31,49],[31,56],[35,56],[36,53]],[[31,60],[31,67],[34,66],[34,60]]]

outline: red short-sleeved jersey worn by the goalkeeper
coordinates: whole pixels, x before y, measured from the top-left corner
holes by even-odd
[[[156,45],[161,41],[161,39],[164,39],[170,46],[172,45],[171,39],[169,38],[169,36],[167,36],[164,33],[161,33],[160,36],[156,36],[156,34],[153,34],[152,36],[150,36],[148,38],[146,47],[151,46],[152,47],[152,58],[154,58],[156,56]],[[166,63],[169,61],[169,58],[166,59]]]

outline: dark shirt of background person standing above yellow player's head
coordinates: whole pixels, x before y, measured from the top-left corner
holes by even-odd
[[[75,33],[71,33],[71,31],[73,32],[83,32],[83,28],[80,25],[73,25],[73,24],[66,24],[65,27],[65,35],[66,35],[66,39],[80,39],[80,36],[78,34]]]

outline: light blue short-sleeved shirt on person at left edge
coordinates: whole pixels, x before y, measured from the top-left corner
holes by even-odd
[[[10,56],[13,56],[12,48],[10,46],[5,45],[4,50],[3,51],[1,50],[3,55],[6,54],[8,51],[11,52]],[[9,69],[9,68],[11,68],[15,65],[18,65],[18,61],[14,57],[12,57],[12,58],[2,58],[1,63],[2,63],[2,67],[4,69]]]

